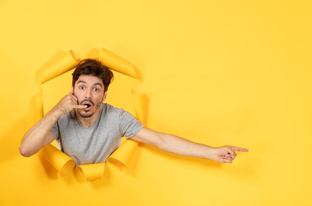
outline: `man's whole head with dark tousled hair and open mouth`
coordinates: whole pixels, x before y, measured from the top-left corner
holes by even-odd
[[[100,112],[102,101],[106,99],[108,86],[113,78],[113,73],[101,62],[95,59],[85,59],[79,62],[72,74],[74,96],[78,104],[88,105],[87,108],[77,109],[76,115],[89,118]]]

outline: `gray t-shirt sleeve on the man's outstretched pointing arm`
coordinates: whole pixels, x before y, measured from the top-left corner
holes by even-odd
[[[122,136],[127,139],[135,136],[144,127],[144,125],[131,113],[122,110],[119,115],[119,128]]]

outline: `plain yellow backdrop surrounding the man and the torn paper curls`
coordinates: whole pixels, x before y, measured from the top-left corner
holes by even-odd
[[[312,205],[311,10],[310,0],[1,0],[0,205]],[[147,126],[250,152],[217,164],[140,144],[126,172],[109,165],[91,183],[22,157],[40,69],[102,47],[142,73]],[[116,74],[107,102],[133,112],[135,83]],[[45,109],[70,84],[70,73],[47,83]]]

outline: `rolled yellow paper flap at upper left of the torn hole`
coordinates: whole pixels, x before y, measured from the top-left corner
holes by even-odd
[[[44,69],[41,84],[74,69],[79,61],[79,57],[72,50],[66,52]]]

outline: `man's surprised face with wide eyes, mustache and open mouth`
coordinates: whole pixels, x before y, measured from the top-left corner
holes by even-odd
[[[80,75],[75,82],[74,95],[78,99],[78,104],[87,108],[77,109],[76,115],[89,118],[93,114],[99,114],[102,101],[106,99],[104,85],[100,78],[89,75]],[[98,115],[96,115],[97,117]]]

